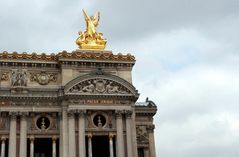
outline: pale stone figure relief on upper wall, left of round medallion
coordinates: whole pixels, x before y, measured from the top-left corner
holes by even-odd
[[[26,70],[22,70],[22,69],[13,70],[11,81],[12,81],[12,86],[27,86]]]

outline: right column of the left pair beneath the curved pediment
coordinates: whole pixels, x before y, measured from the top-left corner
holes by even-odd
[[[79,157],[85,157],[85,113],[84,110],[79,110],[78,120],[78,137],[79,137]]]

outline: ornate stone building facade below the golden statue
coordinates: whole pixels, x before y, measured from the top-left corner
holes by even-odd
[[[155,157],[134,56],[76,50],[0,53],[1,157]]]

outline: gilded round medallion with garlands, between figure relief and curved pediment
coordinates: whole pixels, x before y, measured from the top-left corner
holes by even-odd
[[[57,74],[48,74],[46,72],[31,73],[30,80],[36,81],[40,85],[47,85],[50,82],[57,81]]]

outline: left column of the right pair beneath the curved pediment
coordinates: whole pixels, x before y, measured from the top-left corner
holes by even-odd
[[[117,157],[124,157],[124,135],[122,111],[116,111],[116,129],[117,129]]]

